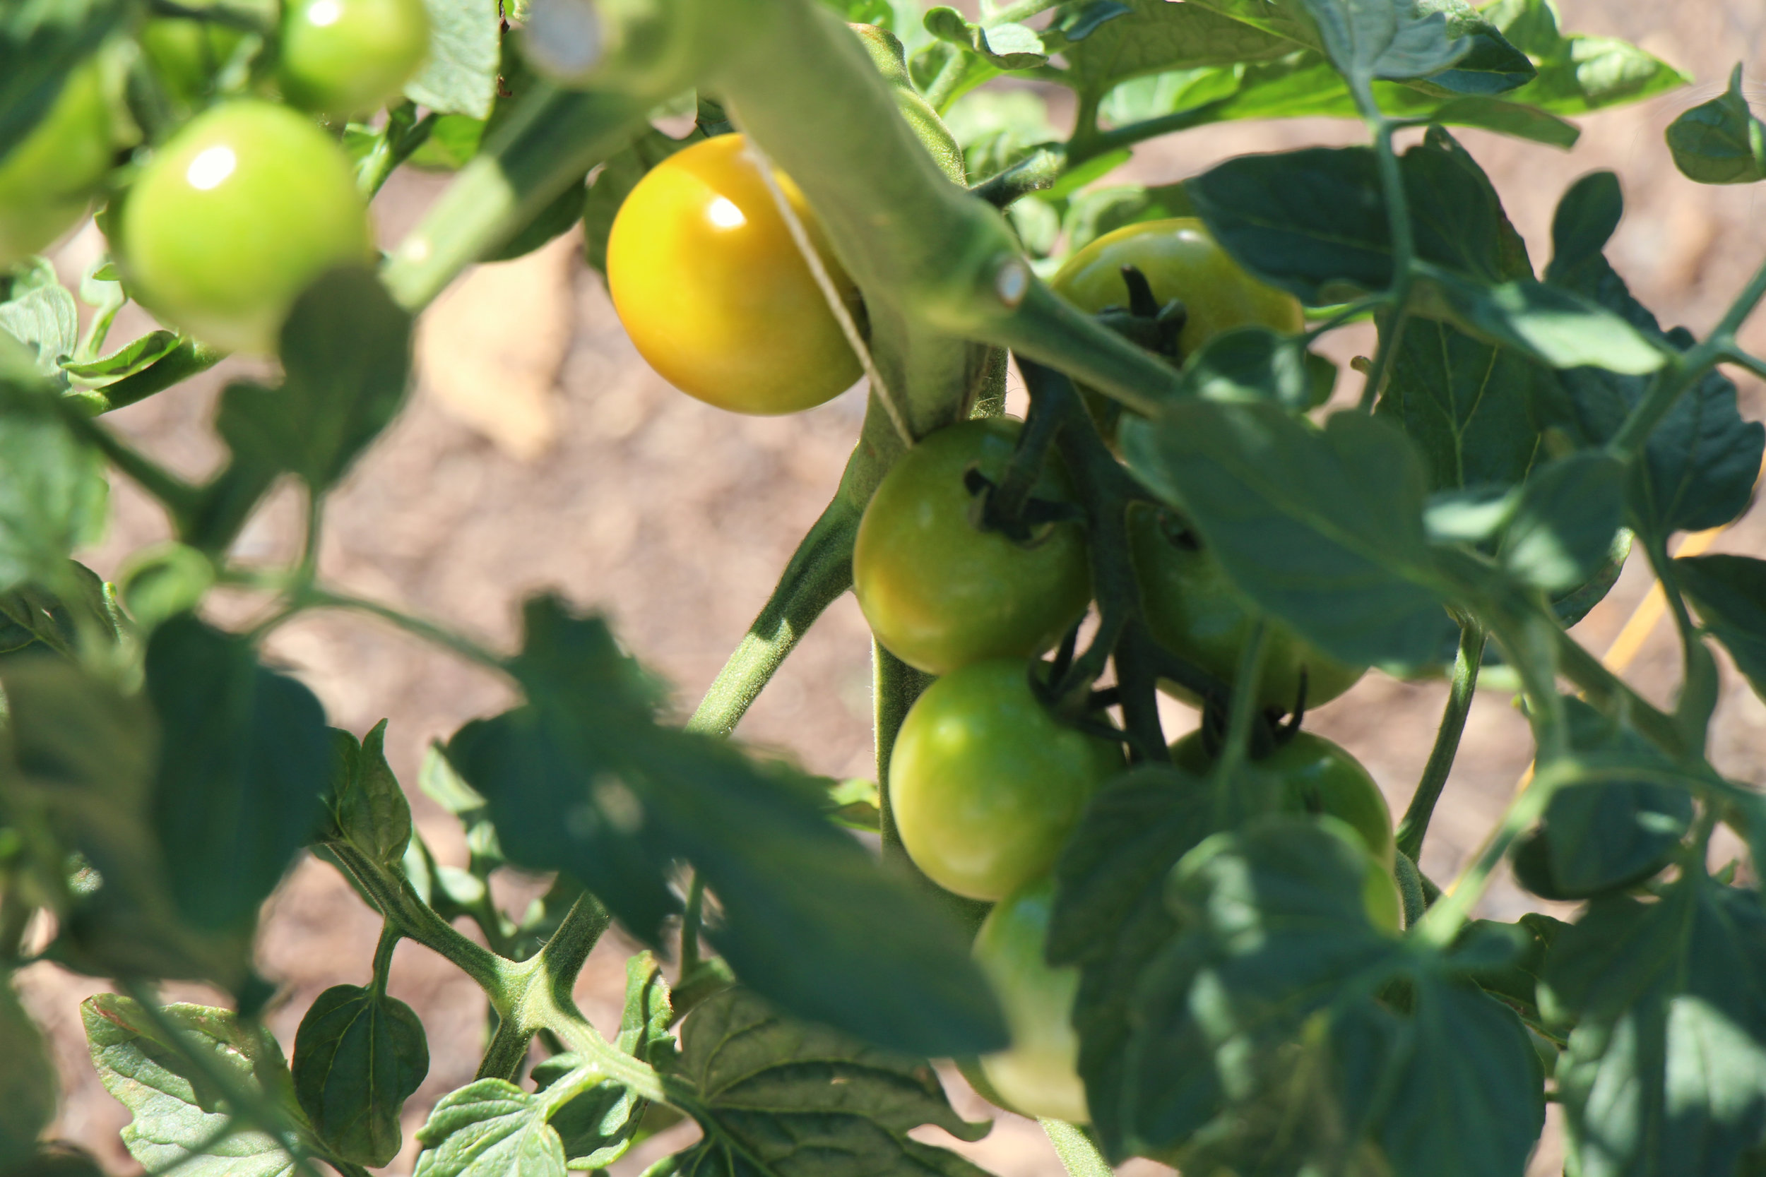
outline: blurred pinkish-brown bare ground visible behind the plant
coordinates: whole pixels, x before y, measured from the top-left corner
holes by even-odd
[[[1551,210],[1563,189],[1598,168],[1618,171],[1626,215],[1611,249],[1614,265],[1664,323],[1704,332],[1766,256],[1766,194],[1759,185],[1711,189],[1681,178],[1662,132],[1679,111],[1718,94],[1736,60],[1759,76],[1766,0],[1559,4],[1566,32],[1626,37],[1695,85],[1584,120],[1572,152],[1480,132],[1460,139],[1489,169],[1536,265],[1549,256]],[[1053,115],[1060,122],[1067,109],[1054,104]],[[1208,127],[1137,148],[1118,176],[1164,184],[1227,155],[1360,136],[1358,127],[1333,120]],[[376,203],[383,240],[397,240],[445,182],[397,176]],[[92,228],[67,242],[58,254],[64,279],[78,279],[101,249]],[[124,321],[117,337],[143,325]],[[1755,349],[1766,348],[1762,316],[1750,337]],[[525,595],[562,591],[604,611],[620,639],[675,685],[682,713],[689,711],[834,492],[864,411],[862,390],[789,418],[733,416],[671,390],[632,351],[574,236],[464,275],[424,316],[417,349],[420,378],[410,409],[332,501],[323,575],[503,648],[516,639],[516,605]],[[1355,332],[1330,348],[1340,362],[1367,349],[1370,337]],[[212,372],[113,420],[180,471],[205,473],[221,457],[208,427],[214,397],[238,371]],[[1344,374],[1339,395],[1353,395],[1358,378],[1347,367]],[[1741,397],[1745,415],[1766,416],[1757,381],[1743,379]],[[117,485],[115,506],[108,540],[87,554],[104,575],[132,549],[166,535],[161,514],[125,482]],[[275,499],[242,536],[242,554],[291,556],[297,524],[297,499]],[[1766,552],[1766,514],[1743,519],[1715,551]],[[1649,584],[1641,563],[1634,556],[1612,595],[1577,628],[1596,653]],[[233,616],[226,609],[223,602],[223,619]],[[390,718],[387,752],[411,792],[422,835],[443,861],[464,863],[457,826],[415,789],[417,766],[431,739],[503,706],[505,688],[357,618],[302,618],[274,635],[270,655],[318,692],[332,723],[360,734]],[[1676,662],[1669,626],[1660,625],[1628,674],[1644,695],[1667,701]],[[791,655],[738,736],[788,750],[818,773],[869,776],[869,635],[848,595]],[[1307,722],[1355,752],[1399,813],[1429,753],[1445,693],[1443,683],[1399,683],[1376,672]],[[1190,725],[1194,715],[1173,704],[1169,731]],[[1718,768],[1766,785],[1766,706],[1727,665],[1717,732]],[[1482,692],[1423,852],[1427,873],[1453,877],[1513,792],[1529,753],[1510,697]],[[509,902],[521,896],[525,903],[533,882],[509,879],[500,888]],[[1531,900],[1505,879],[1491,889],[1483,914],[1513,919],[1535,907],[1574,912]],[[307,859],[293,870],[272,900],[260,944],[260,969],[283,986],[270,1025],[284,1050],[313,997],[330,985],[364,983],[376,933],[378,919],[330,866]],[[602,1029],[618,1022],[629,949],[609,933],[577,986]],[[111,1172],[140,1172],[117,1135],[127,1113],[99,1087],[79,1031],[78,1002],[102,983],[34,965],[19,986],[49,1027],[62,1071],[53,1133],[90,1149]],[[408,1173],[411,1133],[436,1098],[472,1078],[486,1006],[472,981],[410,942],[394,956],[390,990],[419,1011],[431,1046],[429,1078],[406,1106],[404,1152],[387,1170]],[[212,1001],[200,988],[173,995]],[[1001,1177],[1061,1173],[1033,1122],[992,1112],[954,1075],[948,1083],[971,1119],[996,1117],[987,1138],[959,1145],[968,1156]],[[613,1172],[638,1173],[692,1131],[673,1129]],[[1551,1126],[1533,1173],[1561,1170],[1556,1142]],[[1169,1172],[1151,1163],[1136,1170]]]

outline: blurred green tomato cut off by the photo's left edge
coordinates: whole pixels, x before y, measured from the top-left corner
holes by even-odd
[[[67,74],[42,122],[0,155],[0,270],[87,215],[111,166],[111,136],[102,65],[87,60]]]

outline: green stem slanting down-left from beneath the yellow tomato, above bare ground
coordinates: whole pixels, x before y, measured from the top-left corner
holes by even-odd
[[[687,731],[728,736],[804,632],[853,584],[860,508],[835,494],[798,544],[742,644],[712,681]]]

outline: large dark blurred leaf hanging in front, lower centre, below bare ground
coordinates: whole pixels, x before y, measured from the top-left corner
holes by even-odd
[[[659,725],[659,686],[599,619],[535,598],[525,621],[510,672],[528,702],[447,750],[512,861],[574,873],[655,942],[687,859],[722,909],[712,942],[781,1008],[915,1053],[1001,1045],[959,928],[826,821],[812,780]]]

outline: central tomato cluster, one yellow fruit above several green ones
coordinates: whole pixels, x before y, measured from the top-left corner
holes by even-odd
[[[726,134],[652,169],[615,219],[608,284],[639,353],[673,385],[740,413],[791,413],[858,379],[848,326],[830,307],[834,295],[857,311],[858,293],[791,180],[774,173],[768,184],[763,166],[740,134]],[[819,279],[798,238],[814,249]],[[1123,266],[1137,268],[1160,304],[1181,300],[1185,353],[1234,326],[1302,328],[1293,298],[1245,274],[1190,219],[1109,233],[1077,251],[1053,286],[1098,312],[1123,302]],[[887,789],[915,866],[947,891],[992,903],[975,955],[1000,992],[1014,1045],[980,1061],[987,1094],[1028,1115],[1084,1122],[1070,1025],[1079,978],[1051,967],[1044,946],[1056,859],[1125,759],[1118,741],[1065,723],[1037,690],[1047,674],[1038,656],[1084,618],[1091,575],[1077,522],[1015,535],[984,522],[978,491],[1000,484],[1021,432],[1014,418],[989,418],[922,438],[865,508],[853,582],[878,642],[938,676],[901,725]],[[1058,457],[1045,461],[1031,494],[1072,501]],[[1137,506],[1130,535],[1151,635],[1236,686],[1256,621],[1250,603],[1169,512]],[[1257,706],[1296,709],[1302,693],[1328,702],[1363,671],[1272,626]],[[1185,697],[1174,683],[1162,686]],[[1385,798],[1337,745],[1284,736],[1259,768],[1282,782],[1287,810],[1330,815],[1360,835],[1369,912],[1397,932]],[[1171,755],[1194,776],[1213,759],[1201,732],[1176,741]]]

